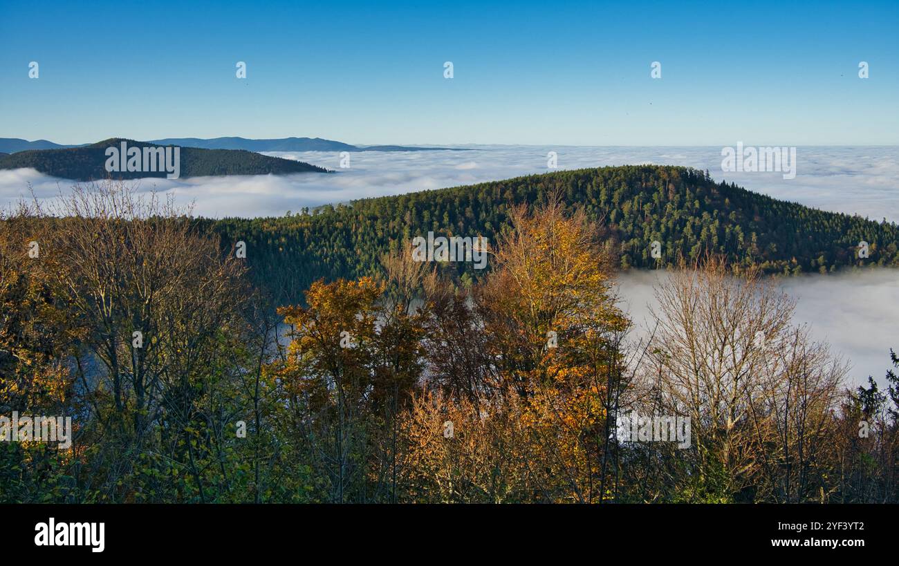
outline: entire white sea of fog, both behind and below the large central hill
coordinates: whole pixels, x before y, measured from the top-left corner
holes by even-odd
[[[735,143],[734,143],[735,146]],[[336,152],[271,152],[335,171],[334,174],[250,175],[179,180],[147,179],[139,190],[170,192],[193,203],[205,217],[282,216],[303,207],[495,181],[558,169],[603,165],[670,164],[708,170],[716,180],[814,208],[899,222],[899,147],[798,147],[796,176],[782,172],[723,172],[722,147],[468,146],[470,151],[358,152],[342,168]],[[789,176],[789,175],[786,175]],[[0,171],[0,204],[30,198],[53,199],[72,181],[31,169]],[[621,294],[637,324],[652,302],[659,274],[631,272],[619,279]],[[899,271],[839,276],[809,275],[780,285],[797,299],[797,322],[809,323],[817,340],[849,358],[852,383],[881,377],[889,349],[899,349]],[[881,382],[883,380],[881,379]]]

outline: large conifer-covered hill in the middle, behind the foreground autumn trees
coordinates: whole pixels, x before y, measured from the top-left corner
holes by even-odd
[[[476,236],[495,242],[511,204],[537,202],[562,190],[607,227],[606,245],[623,269],[662,267],[681,252],[725,253],[769,273],[830,272],[857,265],[899,266],[899,226],[823,212],[772,199],[708,172],[671,166],[628,165],[551,172],[505,181],[318,208],[277,218],[226,218],[214,223],[223,245],[247,244],[247,261],[263,285],[295,301],[313,280],[356,278],[374,272],[378,258],[415,235]],[[847,190],[850,190],[847,187]],[[661,243],[662,258],[650,245]],[[858,258],[859,242],[869,244]],[[454,264],[463,279],[471,264]]]

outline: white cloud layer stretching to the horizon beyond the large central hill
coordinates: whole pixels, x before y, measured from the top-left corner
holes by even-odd
[[[735,144],[735,142],[734,142]],[[799,147],[796,179],[780,172],[722,172],[721,147],[474,146],[473,151],[359,152],[350,168],[325,152],[270,152],[321,165],[333,174],[247,175],[191,179],[146,179],[142,190],[172,191],[196,202],[205,217],[281,216],[287,210],[352,199],[394,195],[496,181],[547,169],[555,151],[559,169],[603,165],[670,164],[708,170],[716,180],[815,208],[899,221],[899,147]],[[39,198],[58,194],[72,181],[33,170],[0,171],[0,203],[27,197],[28,182]]]

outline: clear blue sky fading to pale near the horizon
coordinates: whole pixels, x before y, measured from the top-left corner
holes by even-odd
[[[896,0],[164,4],[0,0],[0,137],[899,144]]]

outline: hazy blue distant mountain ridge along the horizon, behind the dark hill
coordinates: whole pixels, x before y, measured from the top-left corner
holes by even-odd
[[[199,149],[244,149],[246,151],[467,151],[460,147],[353,146],[322,137],[279,137],[250,139],[247,137],[164,137],[146,143],[159,146],[197,147]],[[31,149],[68,149],[90,144],[64,146],[46,139],[28,141],[19,137],[0,137],[0,153],[14,154]]]

